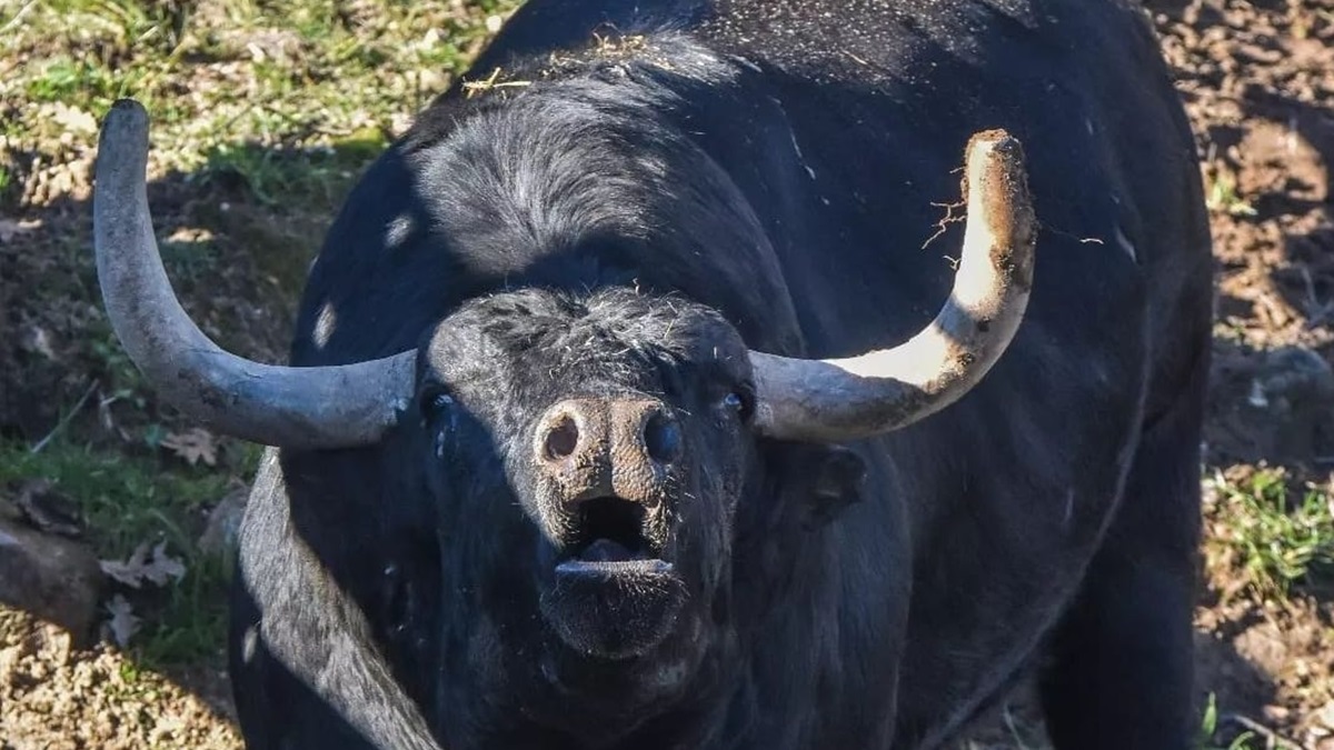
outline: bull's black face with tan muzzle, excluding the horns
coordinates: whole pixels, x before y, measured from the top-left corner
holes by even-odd
[[[459,565],[487,609],[564,658],[674,634],[678,655],[706,647],[754,464],[735,330],[684,300],[522,291],[464,307],[419,352],[415,450],[446,548],[482,551]]]

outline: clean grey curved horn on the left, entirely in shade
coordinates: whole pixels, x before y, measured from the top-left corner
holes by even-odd
[[[217,347],[172,292],[144,171],[148,113],[116,101],[97,143],[93,246],[107,315],[129,358],[173,406],[220,432],[296,448],[376,442],[412,395],[416,355],[338,367],[260,364]]]

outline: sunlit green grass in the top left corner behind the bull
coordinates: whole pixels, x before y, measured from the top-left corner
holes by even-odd
[[[60,132],[33,104],[100,117],[116,97],[135,96],[153,119],[155,161],[183,171],[232,143],[332,147],[398,132],[462,72],[487,36],[486,17],[507,4],[196,5],[35,3],[0,32],[25,59],[17,75],[0,76],[0,101],[12,103],[0,105],[7,132],[41,151]]]

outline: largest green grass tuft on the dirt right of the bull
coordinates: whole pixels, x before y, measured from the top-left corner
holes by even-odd
[[[1287,474],[1261,468],[1239,483],[1221,472],[1217,494],[1223,546],[1262,595],[1287,597],[1294,585],[1334,574],[1334,498],[1315,484],[1291,491]]]

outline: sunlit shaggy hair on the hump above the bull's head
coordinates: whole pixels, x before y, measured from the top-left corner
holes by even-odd
[[[712,169],[682,133],[644,116],[676,99],[667,73],[646,60],[588,64],[594,75],[578,79],[527,71],[535,80],[519,93],[484,93],[450,119],[448,137],[415,133],[422,192],[439,202],[450,234],[494,238],[492,252],[504,255],[594,232],[650,239],[671,227],[663,203],[694,198],[679,192]]]

